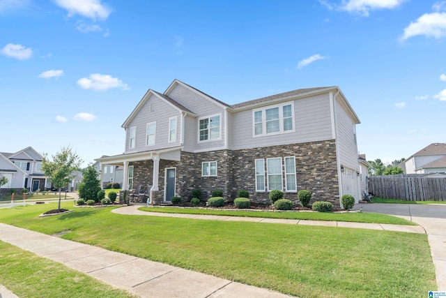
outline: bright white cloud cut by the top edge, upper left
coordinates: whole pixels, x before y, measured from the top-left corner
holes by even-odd
[[[54,0],[56,5],[68,11],[68,17],[82,15],[92,20],[105,20],[112,13],[100,0]]]

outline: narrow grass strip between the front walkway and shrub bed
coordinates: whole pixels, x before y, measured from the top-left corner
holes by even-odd
[[[220,216],[243,216],[243,217],[261,217],[261,218],[286,218],[286,219],[303,219],[312,221],[353,221],[357,223],[389,223],[392,225],[417,225],[406,219],[373,213],[325,213],[325,212],[280,212],[280,211],[226,211],[215,209],[190,209],[175,207],[141,207],[142,211],[153,211],[162,213],[179,213],[179,214],[206,214]]]

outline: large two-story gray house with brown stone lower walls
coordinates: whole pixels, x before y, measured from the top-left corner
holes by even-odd
[[[307,189],[339,206],[343,194],[360,198],[356,124],[335,86],[228,105],[174,80],[164,93],[149,89],[125,120],[125,152],[96,161],[123,166],[123,189],[151,185],[154,204],[188,200],[194,188],[226,200],[243,189],[261,203],[279,189],[297,203]]]

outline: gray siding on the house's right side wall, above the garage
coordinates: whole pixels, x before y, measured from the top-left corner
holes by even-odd
[[[344,167],[353,170],[359,170],[357,161],[357,144],[355,144],[355,135],[353,133],[353,120],[348,116],[343,105],[336,100],[336,137],[337,151],[339,152],[339,162]]]

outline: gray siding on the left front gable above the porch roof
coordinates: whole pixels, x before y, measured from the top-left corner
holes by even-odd
[[[151,111],[153,103],[153,111]],[[176,116],[176,142],[169,143],[169,118]],[[156,122],[155,145],[146,146],[147,124]],[[125,130],[125,152],[148,151],[176,147],[181,142],[180,112],[157,96],[150,96]],[[134,149],[130,149],[130,128],[137,127]]]

